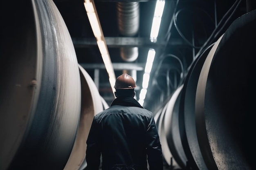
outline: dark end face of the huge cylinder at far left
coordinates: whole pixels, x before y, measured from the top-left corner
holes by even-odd
[[[41,35],[30,1],[1,3],[0,169],[15,156],[30,127],[41,86]],[[26,10],[24,10],[26,9]],[[16,11],[16,13],[13,13]],[[18,26],[18,31],[17,31]],[[15,40],[15,41],[13,41]],[[28,50],[29,49],[29,50]]]

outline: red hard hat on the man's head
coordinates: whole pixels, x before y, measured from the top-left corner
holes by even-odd
[[[130,75],[124,73],[117,77],[114,87],[115,89],[130,89],[135,88],[136,84],[134,79]]]

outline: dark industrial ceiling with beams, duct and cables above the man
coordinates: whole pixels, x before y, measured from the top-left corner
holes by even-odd
[[[110,105],[114,95],[83,2],[54,0],[70,32],[79,64]],[[162,106],[184,81],[196,57],[247,12],[248,2],[166,0],[157,42],[150,42],[156,0],[94,0],[115,76],[126,72],[136,79],[136,99],[148,49],[155,49],[143,105],[151,111]]]

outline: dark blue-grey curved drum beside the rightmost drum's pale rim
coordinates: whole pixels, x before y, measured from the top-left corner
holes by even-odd
[[[195,128],[195,93],[202,65],[212,46],[204,51],[192,64],[184,81],[180,96],[179,122],[180,136],[188,166],[193,170],[208,170],[204,163]]]

